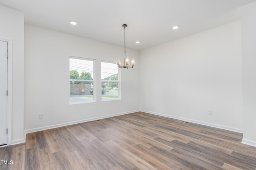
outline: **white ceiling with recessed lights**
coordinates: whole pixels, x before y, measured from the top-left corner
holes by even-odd
[[[120,46],[125,23],[126,47],[142,50],[239,20],[240,6],[254,1],[0,0],[0,5],[24,12],[25,23]]]

